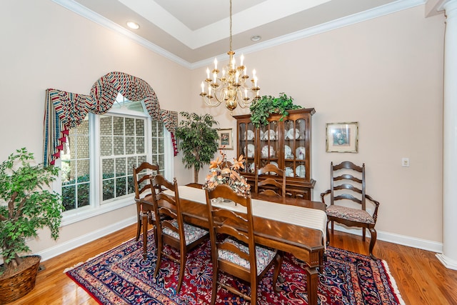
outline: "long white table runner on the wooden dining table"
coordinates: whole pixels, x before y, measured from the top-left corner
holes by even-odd
[[[169,190],[165,191],[165,194],[174,196],[174,193]],[[204,189],[196,189],[191,186],[179,186],[179,197],[199,202],[201,204],[206,204],[206,194]],[[327,215],[325,211],[305,208],[303,206],[276,204],[271,201],[258,199],[251,199],[251,204],[252,213],[255,216],[321,231],[323,243],[324,245],[326,244]],[[246,208],[244,206],[240,206],[239,204],[235,206],[233,202],[217,202],[213,205],[246,213]]]

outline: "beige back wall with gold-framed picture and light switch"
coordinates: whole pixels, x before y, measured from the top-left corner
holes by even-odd
[[[331,161],[364,162],[367,192],[381,202],[378,237],[441,243],[444,17],[426,19],[423,10],[418,6],[244,55],[246,66],[256,68],[261,95],[286,92],[296,104],[316,109],[314,200],[328,189]],[[195,96],[205,71],[192,72],[192,95],[200,104]],[[207,111],[221,127],[235,127],[229,111]],[[326,153],[326,123],[346,121],[358,121],[358,154]],[[410,167],[401,167],[402,157]]]

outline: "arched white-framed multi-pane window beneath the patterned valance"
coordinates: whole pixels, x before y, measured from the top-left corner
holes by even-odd
[[[87,210],[93,215],[94,209],[132,204],[132,169],[144,161],[159,164],[161,174],[169,179],[173,172],[173,154],[165,153],[172,151],[169,132],[144,109],[141,101],[119,95],[109,112],[89,114],[70,130],[61,155],[64,221],[67,215]]]

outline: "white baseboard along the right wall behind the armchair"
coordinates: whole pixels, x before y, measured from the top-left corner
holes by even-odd
[[[330,226],[330,225],[329,225]],[[335,230],[346,232],[349,234],[355,234],[362,236],[362,229],[360,228],[349,228],[346,226],[341,226],[339,224],[335,224]],[[432,251],[436,253],[443,252],[443,244],[438,243],[436,241],[429,241],[427,239],[417,239],[411,236],[405,236],[400,234],[393,234],[384,231],[378,231],[378,240],[380,241],[388,241],[393,244],[401,244],[403,246],[411,246],[417,249],[423,249],[427,251]],[[367,236],[370,236],[370,233],[367,233]]]

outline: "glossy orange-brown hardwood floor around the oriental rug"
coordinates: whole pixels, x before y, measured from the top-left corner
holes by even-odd
[[[131,239],[135,234],[136,225],[129,226],[42,262],[46,269],[39,271],[34,290],[10,304],[97,304],[86,291],[64,274],[64,269],[107,251]],[[363,244],[361,236],[338,231],[331,236],[331,246],[366,255],[368,243],[369,239]],[[377,241],[374,253],[379,259],[387,261],[406,304],[457,304],[457,271],[446,269],[433,252]]]

